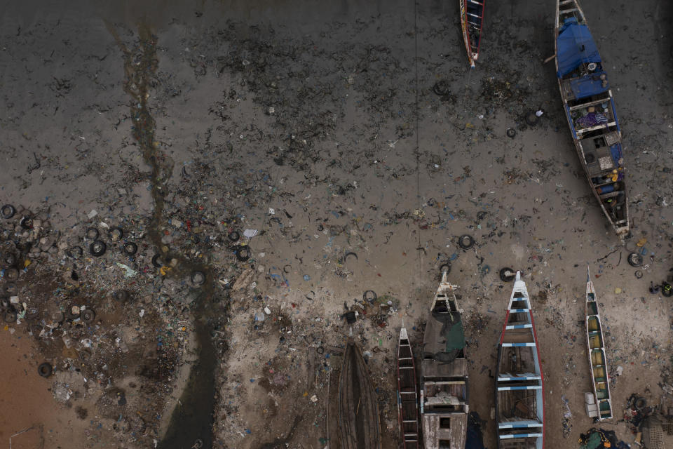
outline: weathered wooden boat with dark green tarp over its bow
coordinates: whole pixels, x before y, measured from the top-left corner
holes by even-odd
[[[444,272],[423,335],[421,422],[426,449],[465,448],[468,367],[456,288]]]

